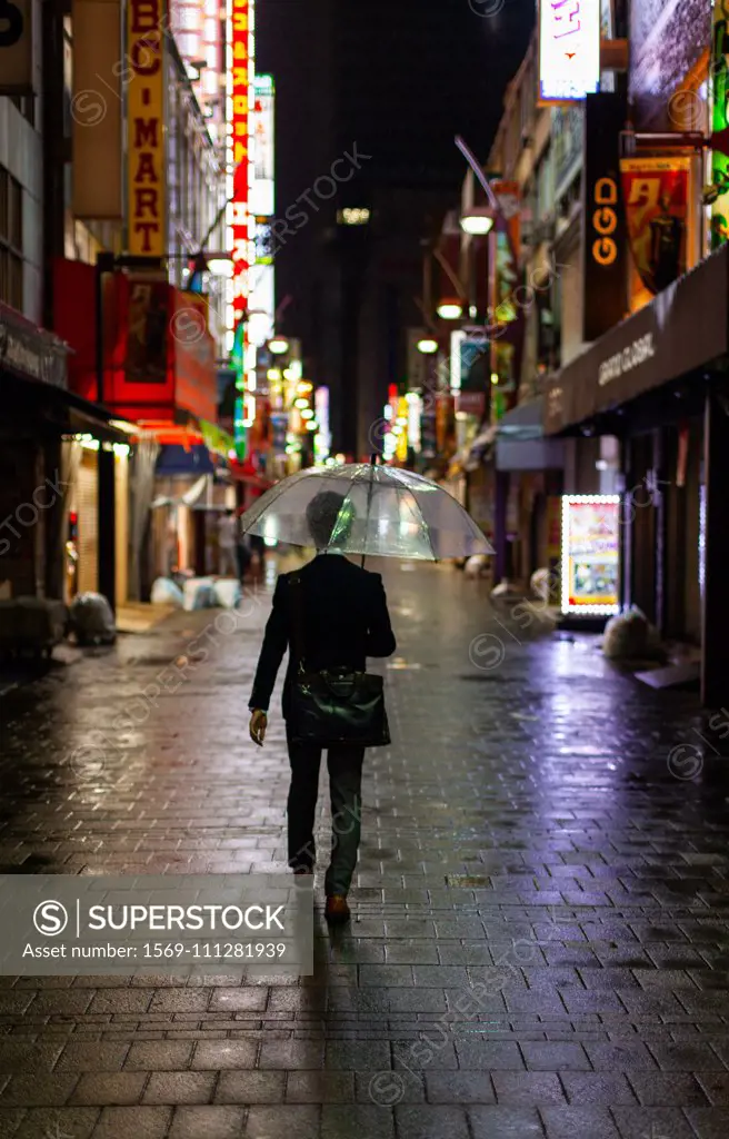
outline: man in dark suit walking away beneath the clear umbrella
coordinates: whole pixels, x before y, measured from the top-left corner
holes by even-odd
[[[279,576],[249,700],[250,736],[260,746],[276,674],[288,648],[282,702],[291,767],[288,860],[297,875],[314,872],[314,822],[325,746],[332,850],[324,891],[325,917],[331,923],[349,918],[347,894],[359,849],[365,746],[317,745],[298,738],[297,675],[306,658],[307,673],[329,675],[348,670],[362,677],[367,657],[390,656],[396,648],[382,577],[330,549],[332,532],[341,526],[343,507],[343,495],[333,491],[321,491],[308,503],[306,518],[317,552],[303,570]]]

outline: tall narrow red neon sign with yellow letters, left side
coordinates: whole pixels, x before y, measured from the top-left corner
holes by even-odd
[[[250,0],[233,0],[233,312],[235,322],[246,312],[250,269],[250,218],[248,213],[249,132],[250,132]]]

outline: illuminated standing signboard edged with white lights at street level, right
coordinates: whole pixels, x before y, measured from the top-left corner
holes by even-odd
[[[562,613],[619,609],[620,495],[562,497]]]

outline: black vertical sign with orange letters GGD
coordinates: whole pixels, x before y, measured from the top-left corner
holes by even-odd
[[[598,339],[628,309],[626,214],[620,186],[620,95],[585,100],[585,202],[582,211],[582,339]]]

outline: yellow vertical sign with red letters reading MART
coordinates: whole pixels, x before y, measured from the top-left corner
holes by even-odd
[[[166,0],[129,0],[127,248],[132,256],[161,257],[167,249],[165,26]]]

